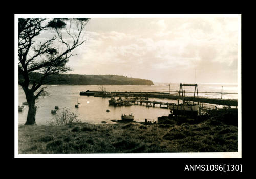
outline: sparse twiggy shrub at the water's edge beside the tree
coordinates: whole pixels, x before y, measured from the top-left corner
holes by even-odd
[[[54,118],[52,118],[50,121],[47,121],[49,125],[67,125],[72,123],[81,122],[79,119],[77,119],[78,115],[71,112],[68,108],[63,108],[62,111],[57,113]]]

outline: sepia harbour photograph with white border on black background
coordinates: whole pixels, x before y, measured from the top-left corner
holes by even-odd
[[[241,158],[241,15],[15,14],[14,27],[15,157]]]

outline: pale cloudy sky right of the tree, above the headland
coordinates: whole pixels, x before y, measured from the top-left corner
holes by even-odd
[[[91,18],[69,73],[237,83],[238,27],[236,17]]]

